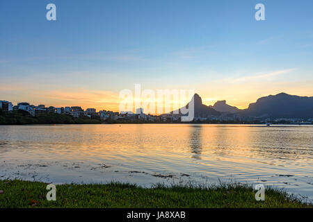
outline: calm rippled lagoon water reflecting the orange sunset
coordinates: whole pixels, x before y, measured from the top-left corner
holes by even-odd
[[[0,179],[263,183],[313,200],[313,126],[0,126]]]

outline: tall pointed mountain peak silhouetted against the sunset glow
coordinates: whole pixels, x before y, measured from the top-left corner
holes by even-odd
[[[194,101],[194,103],[195,103],[195,105],[194,105],[195,117],[207,117],[207,116],[211,116],[211,115],[213,115],[213,116],[220,116],[220,112],[214,110],[213,108],[210,108],[207,105],[202,104],[202,99],[201,99],[201,97],[198,94],[194,94],[193,98],[191,99],[191,101]],[[189,103],[191,103],[191,101]],[[189,107],[189,103],[186,105],[186,108]],[[180,108],[178,110],[179,114],[182,114],[181,109],[182,108]],[[173,113],[173,112],[171,112],[171,113]]]

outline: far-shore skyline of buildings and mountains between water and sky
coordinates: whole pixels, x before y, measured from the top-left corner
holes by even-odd
[[[136,107],[136,105],[140,106]],[[10,101],[0,101],[0,125],[14,123],[196,122],[266,123],[267,126],[270,126],[271,122],[275,124],[311,125],[313,120],[313,96],[296,96],[286,93],[259,98],[256,103],[250,103],[246,110],[228,105],[226,101],[218,101],[214,106],[204,105],[199,94],[194,94],[191,101],[180,106],[177,110],[163,113],[155,112],[159,110],[159,107],[155,107],[156,110],[153,111],[148,106],[141,106],[141,103],[136,105],[135,110],[126,109],[114,112],[112,110],[96,110],[95,108],[84,110],[81,106],[57,108],[44,104],[35,106],[30,103],[18,103],[13,106]],[[88,118],[86,119],[86,117]]]

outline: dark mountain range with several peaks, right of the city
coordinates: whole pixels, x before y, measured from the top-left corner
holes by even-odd
[[[191,101],[192,100],[195,102],[195,117],[219,116],[221,114],[272,118],[313,117],[313,96],[292,96],[285,93],[280,93],[275,96],[264,96],[257,99],[257,102],[250,103],[248,109],[245,110],[227,105],[226,101],[217,101],[213,106],[204,105],[198,94],[195,94]],[[188,104],[186,108],[188,108]],[[180,110],[181,109],[179,109],[179,113],[181,113]]]

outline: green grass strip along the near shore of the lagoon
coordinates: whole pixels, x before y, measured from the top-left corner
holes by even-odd
[[[265,201],[255,200],[255,191],[244,185],[218,187],[163,187],[135,185],[57,185],[56,201],[48,201],[47,184],[0,180],[0,207],[313,207],[298,198],[271,188]]]

